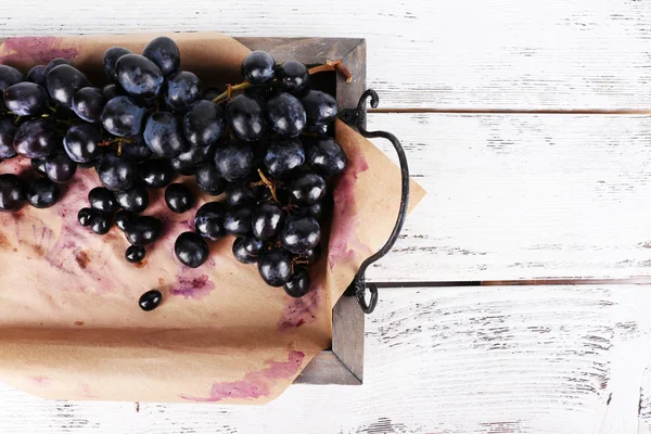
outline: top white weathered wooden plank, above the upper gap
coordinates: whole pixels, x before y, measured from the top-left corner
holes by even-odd
[[[155,13],[152,13],[155,11]],[[366,37],[369,86],[386,106],[633,108],[651,105],[651,3],[24,0],[0,3],[0,36],[221,30]]]

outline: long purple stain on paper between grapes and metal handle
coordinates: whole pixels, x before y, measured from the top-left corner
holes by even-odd
[[[352,260],[356,250],[368,250],[368,246],[357,237],[360,210],[356,206],[355,184],[359,174],[368,170],[369,165],[360,150],[352,148],[347,150],[347,154],[348,167],[333,192],[332,232],[328,244],[330,269]]]

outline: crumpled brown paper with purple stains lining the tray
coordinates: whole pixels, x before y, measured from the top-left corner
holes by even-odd
[[[11,38],[0,63],[27,71],[63,56],[100,76],[111,46],[140,52],[157,35]],[[216,33],[169,34],[182,67],[212,84],[238,82],[248,50]],[[95,81],[97,82],[97,81]],[[311,268],[312,290],[299,299],[267,286],[255,266],[238,263],[233,238],[210,246],[199,269],[183,267],[173,248],[193,227],[200,200],[177,215],[162,192],[144,214],[165,222],[142,266],[124,259],[117,228],[104,237],[77,224],[78,209],[100,182],[79,169],[64,199],[49,209],[0,213],[0,379],[31,394],[59,399],[261,404],[279,396],[330,345],[332,307],[360,263],[386,240],[399,202],[399,169],[346,125],[336,139],[349,165],[334,191],[328,248]],[[29,162],[0,163],[0,173],[27,173]],[[412,182],[411,207],[423,196]],[[158,289],[151,312],[139,296]]]

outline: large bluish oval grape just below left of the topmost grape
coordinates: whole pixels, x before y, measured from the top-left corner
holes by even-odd
[[[127,93],[155,98],[163,87],[163,73],[156,64],[139,54],[125,54],[115,63],[117,81]]]

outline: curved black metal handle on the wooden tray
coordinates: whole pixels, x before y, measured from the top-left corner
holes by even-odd
[[[365,314],[371,314],[375,309],[375,305],[378,304],[378,286],[373,283],[366,283],[366,270],[369,268],[371,264],[386,255],[393,245],[395,244],[400,230],[403,230],[403,225],[405,224],[405,218],[407,217],[407,207],[409,205],[409,165],[407,164],[407,155],[405,155],[405,150],[403,145],[398,141],[398,139],[386,131],[367,131],[363,118],[365,105],[368,98],[371,98],[371,107],[375,108],[378,103],[380,102],[380,98],[378,97],[378,92],[373,89],[366,90],[361,97],[359,98],[359,102],[357,103],[357,110],[350,115],[348,113],[348,117],[350,124],[354,124],[357,127],[359,133],[366,138],[382,138],[388,140],[396,150],[398,154],[398,159],[400,162],[400,173],[401,173],[401,195],[400,195],[400,209],[398,212],[398,218],[396,220],[396,225],[394,226],[393,232],[388,237],[386,243],[380,248],[374,255],[367,258],[361,266],[359,267],[359,271],[355,277],[355,280],[352,283],[355,297],[363,310]],[[344,117],[344,116],[342,116]],[[366,290],[369,290],[371,294],[371,299],[369,303],[366,301]]]

